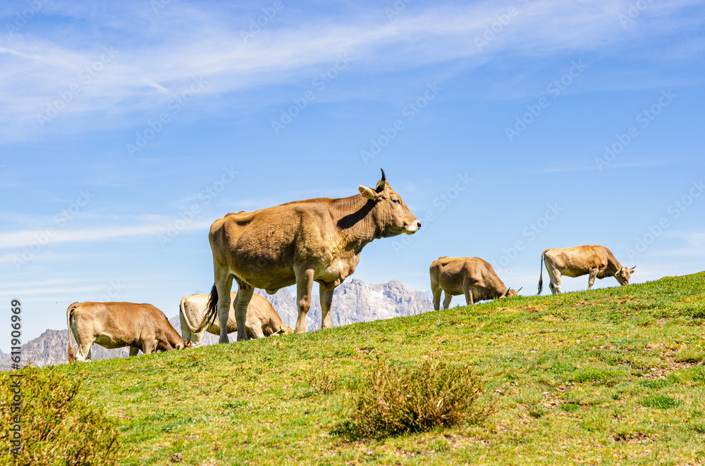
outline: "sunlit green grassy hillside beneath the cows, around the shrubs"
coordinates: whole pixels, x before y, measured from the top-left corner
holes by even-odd
[[[696,465],[704,316],[697,274],[56,370],[84,372],[82,393],[116,420],[125,465]],[[336,435],[378,358],[470,365],[494,413]]]

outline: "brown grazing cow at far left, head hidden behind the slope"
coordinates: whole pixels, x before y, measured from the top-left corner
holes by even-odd
[[[166,315],[151,304],[73,303],[66,310],[68,330],[76,339],[73,354],[68,336],[68,362],[90,360],[90,348],[97,343],[105,348],[130,346],[130,356],[173,349],[191,348],[171,327]]]

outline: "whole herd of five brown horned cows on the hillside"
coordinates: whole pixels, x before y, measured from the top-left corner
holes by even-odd
[[[219,343],[228,343],[231,332],[238,332],[238,340],[306,332],[314,282],[319,284],[321,329],[333,327],[333,291],[355,272],[362,248],[374,239],[413,234],[421,227],[386,182],[384,170],[374,189],[361,185],[358,190],[360,194],[343,199],[295,201],[255,212],[229,213],[213,222],[209,241],[215,283],[209,295],[181,299],[181,335],[151,304],[71,304],[66,320],[77,348],[74,354],[69,336],[69,362],[90,360],[94,343],[106,348],[129,346],[132,356],[138,351],[149,354],[198,346],[205,332],[219,335]],[[561,292],[561,275],[589,275],[591,289],[595,278],[615,277],[621,285],[629,284],[634,272],[633,267],[622,267],[604,246],[546,249],[541,254],[539,294],[544,263],[553,294]],[[441,257],[429,272],[436,310],[441,291],[447,309],[453,296],[465,295],[466,303],[474,304],[514,296],[521,290],[508,289],[480,258]],[[233,281],[237,292],[231,291]],[[271,303],[254,294],[255,288],[274,294],[293,284],[298,306],[295,328],[283,325]]]

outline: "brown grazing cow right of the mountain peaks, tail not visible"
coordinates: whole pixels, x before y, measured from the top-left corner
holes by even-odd
[[[431,293],[434,309],[441,308],[441,291],[445,291],[443,309],[448,309],[453,296],[465,295],[469,306],[484,299],[514,296],[518,290],[508,289],[489,263],[477,257],[441,257],[431,263]]]

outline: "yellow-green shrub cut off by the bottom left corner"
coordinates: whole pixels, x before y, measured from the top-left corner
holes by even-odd
[[[21,374],[21,377],[15,377]],[[20,384],[20,413],[13,412],[13,396]],[[73,382],[56,368],[25,367],[0,373],[0,465],[82,466],[115,465],[120,452],[118,430],[104,410],[78,396],[82,378]],[[19,454],[12,441],[19,415]]]

